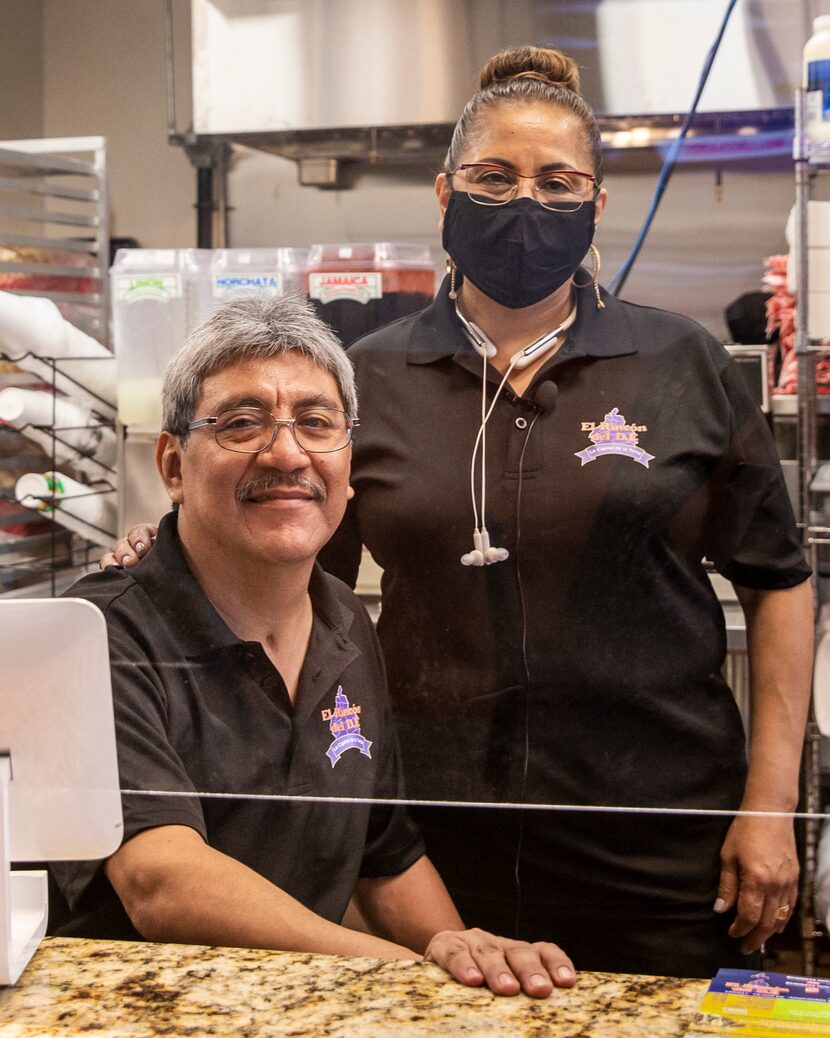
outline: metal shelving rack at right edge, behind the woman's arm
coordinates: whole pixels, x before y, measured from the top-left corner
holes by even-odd
[[[812,567],[814,604],[820,605],[819,548],[830,544],[830,527],[818,525],[813,518],[812,481],[819,467],[818,414],[826,408],[820,407],[817,398],[815,368],[818,356],[827,347],[810,339],[808,334],[808,203],[814,191],[815,180],[823,171],[830,172],[830,157],[815,154],[809,146],[804,131],[804,91],[796,91],[795,134],[793,138],[793,159],[796,177],[796,226],[798,274],[796,294],[796,337],[795,350],[798,362],[797,407],[797,464],[798,464],[798,523],[802,532],[804,549]],[[825,401],[821,401],[824,404]],[[803,767],[804,810],[809,815],[822,811],[822,735],[810,713],[807,725]],[[801,891],[801,936],[804,955],[804,972],[812,976],[815,972],[815,938],[823,933],[822,925],[815,918],[814,880],[820,822],[808,819],[804,834],[804,863]]]

